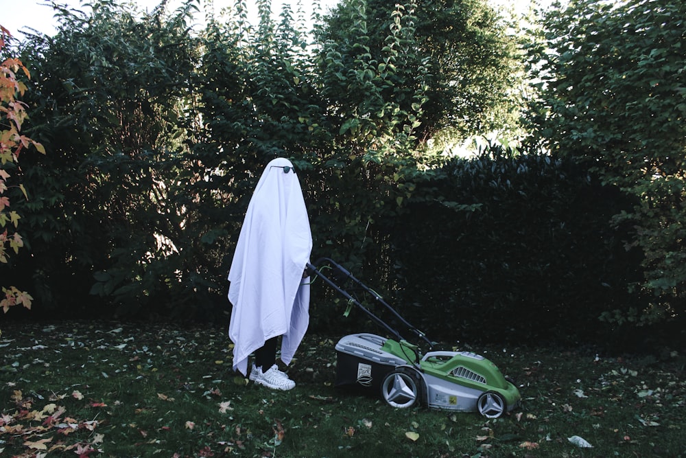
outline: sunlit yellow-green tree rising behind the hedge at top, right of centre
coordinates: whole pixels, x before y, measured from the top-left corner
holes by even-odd
[[[397,22],[404,14],[410,14],[402,25],[412,27],[412,42]],[[416,136],[423,141],[440,135],[464,139],[504,128],[517,112],[512,89],[521,69],[517,44],[506,34],[507,28],[504,17],[482,0],[431,0],[412,7],[383,0],[347,0],[327,18],[321,41],[355,43],[357,37],[364,37],[361,54],[373,65],[385,62],[393,35],[403,40],[400,58],[414,56],[416,72],[425,73],[421,76],[426,86],[423,122]]]

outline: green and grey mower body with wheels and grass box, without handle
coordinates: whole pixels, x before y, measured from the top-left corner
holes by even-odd
[[[421,355],[416,345],[366,333],[344,336],[335,350],[335,385],[376,391],[392,407],[421,404],[495,418],[521,400],[495,364],[472,352]]]

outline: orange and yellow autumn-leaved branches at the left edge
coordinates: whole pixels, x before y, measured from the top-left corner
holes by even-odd
[[[4,229],[0,234],[0,262],[8,264],[8,247],[19,253],[19,249],[24,246],[23,239],[18,232],[9,233],[8,226],[19,225],[19,214],[16,211],[8,211],[10,198],[5,194],[8,191],[10,173],[8,170],[16,170],[19,166],[19,154],[23,149],[34,146],[39,152],[45,153],[43,145],[33,141],[29,137],[20,133],[21,126],[27,117],[26,104],[16,98],[24,95],[26,85],[17,79],[17,72],[21,71],[26,78],[30,78],[29,70],[23,65],[21,60],[10,56],[5,56],[5,47],[11,39],[11,34],[5,27],[0,25],[0,226]],[[22,184],[16,185],[25,198],[26,190]],[[7,275],[3,275],[6,279]],[[7,313],[11,306],[23,305],[31,308],[33,297],[26,291],[22,291],[16,286],[3,286],[5,297],[0,301],[0,308]]]

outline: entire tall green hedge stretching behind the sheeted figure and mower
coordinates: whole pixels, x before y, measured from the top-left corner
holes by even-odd
[[[649,304],[626,290],[652,254],[625,249],[639,197],[559,148],[427,152],[437,130],[498,127],[516,66],[482,3],[354,0],[305,31],[268,0],[249,25],[238,1],[200,32],[191,0],[172,14],[97,5],[58,10],[59,33],[23,47],[27,126],[51,154],[23,163],[35,198],[17,265],[43,309],[222,319],[239,228],[276,156],[296,165],[313,260],[342,262],[430,334],[604,339],[632,323],[600,314]],[[341,325],[332,296],[314,292],[313,329]]]

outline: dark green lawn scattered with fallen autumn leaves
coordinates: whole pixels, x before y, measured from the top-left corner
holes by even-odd
[[[521,408],[488,420],[395,410],[335,389],[340,336],[306,336],[288,369],[298,386],[280,392],[231,371],[223,328],[2,327],[3,457],[686,456],[678,352],[596,358],[589,350],[462,347],[520,385]],[[593,448],[574,446],[573,435]]]

